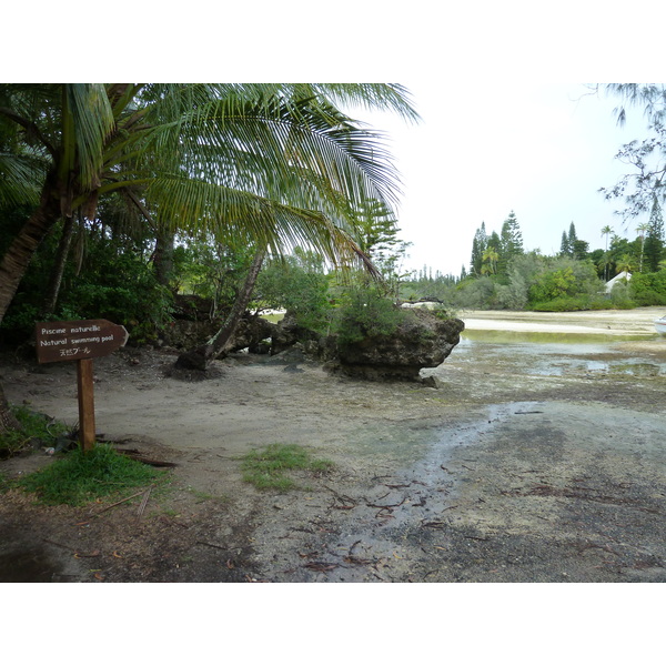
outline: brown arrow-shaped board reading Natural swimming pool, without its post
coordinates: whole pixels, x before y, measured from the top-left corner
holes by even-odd
[[[41,322],[34,326],[34,334],[39,363],[108,356],[124,346],[129,337],[124,326],[107,320]]]

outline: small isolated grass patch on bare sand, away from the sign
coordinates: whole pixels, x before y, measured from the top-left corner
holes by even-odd
[[[324,474],[332,467],[331,461],[313,458],[297,444],[271,444],[260,451],[251,451],[241,464],[243,481],[259,490],[281,492],[296,487],[294,480],[285,474],[287,472],[305,470],[313,474]]]

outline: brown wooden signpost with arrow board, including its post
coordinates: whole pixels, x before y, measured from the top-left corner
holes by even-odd
[[[83,451],[94,445],[94,394],[92,360],[124,346],[124,326],[107,320],[41,322],[34,326],[39,363],[77,361],[79,390],[79,441]]]

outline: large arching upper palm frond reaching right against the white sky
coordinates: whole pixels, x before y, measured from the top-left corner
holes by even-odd
[[[356,202],[372,198],[394,204],[398,180],[383,139],[311,100],[294,105],[278,98],[250,102],[228,95],[157,128],[152,152],[160,169],[180,164],[185,173],[229,188],[283,201],[296,196],[301,206],[316,208],[313,184],[323,182],[325,190]]]

